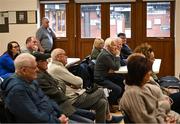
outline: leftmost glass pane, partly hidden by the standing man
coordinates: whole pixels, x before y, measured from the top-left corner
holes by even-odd
[[[45,16],[57,37],[66,37],[66,5],[45,4]]]

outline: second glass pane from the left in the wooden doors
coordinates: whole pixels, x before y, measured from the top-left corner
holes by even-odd
[[[101,37],[100,5],[81,5],[81,37]]]

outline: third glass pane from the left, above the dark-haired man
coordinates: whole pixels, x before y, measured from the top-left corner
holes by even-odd
[[[118,33],[131,37],[131,4],[110,5],[110,36],[117,37]]]

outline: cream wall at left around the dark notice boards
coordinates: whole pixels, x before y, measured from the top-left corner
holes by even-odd
[[[37,0],[0,0],[0,11],[37,10]],[[0,54],[6,51],[7,43],[15,40],[25,45],[28,36],[34,36],[37,24],[9,24],[9,33],[0,33]]]

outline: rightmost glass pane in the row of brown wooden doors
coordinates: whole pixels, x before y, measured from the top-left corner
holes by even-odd
[[[147,37],[170,37],[170,2],[147,3]]]

